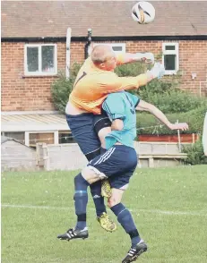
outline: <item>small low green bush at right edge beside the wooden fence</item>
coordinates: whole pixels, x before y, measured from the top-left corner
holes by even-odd
[[[188,165],[203,165],[207,164],[207,157],[203,154],[203,144],[202,144],[202,136],[200,140],[197,140],[191,146],[183,147],[182,151],[187,154],[187,158],[185,159],[185,164]]]

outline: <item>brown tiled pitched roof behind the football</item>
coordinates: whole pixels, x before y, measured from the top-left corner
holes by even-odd
[[[156,1],[156,19],[139,25],[132,1],[3,1],[2,38],[207,35],[206,1]]]

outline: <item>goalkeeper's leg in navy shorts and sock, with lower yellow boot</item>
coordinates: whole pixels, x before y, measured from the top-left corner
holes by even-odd
[[[72,131],[73,138],[82,149],[82,153],[89,161],[100,154],[100,142],[94,131],[94,115],[66,115],[67,123]],[[104,198],[101,196],[101,182],[90,185],[91,195],[95,204],[99,224],[107,231],[115,231],[116,225],[108,217]]]

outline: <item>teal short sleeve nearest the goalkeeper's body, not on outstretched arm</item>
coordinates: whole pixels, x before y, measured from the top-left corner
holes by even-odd
[[[122,92],[120,92],[120,96],[118,93],[109,94],[102,105],[112,121],[116,119],[125,119],[125,103],[121,93]]]

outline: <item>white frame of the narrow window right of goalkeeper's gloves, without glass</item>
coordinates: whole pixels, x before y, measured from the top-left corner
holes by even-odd
[[[166,50],[166,46],[175,46],[175,50]],[[162,43],[162,64],[164,64],[165,55],[176,55],[176,70],[165,71],[165,75],[177,74],[179,70],[179,44],[178,43]]]

